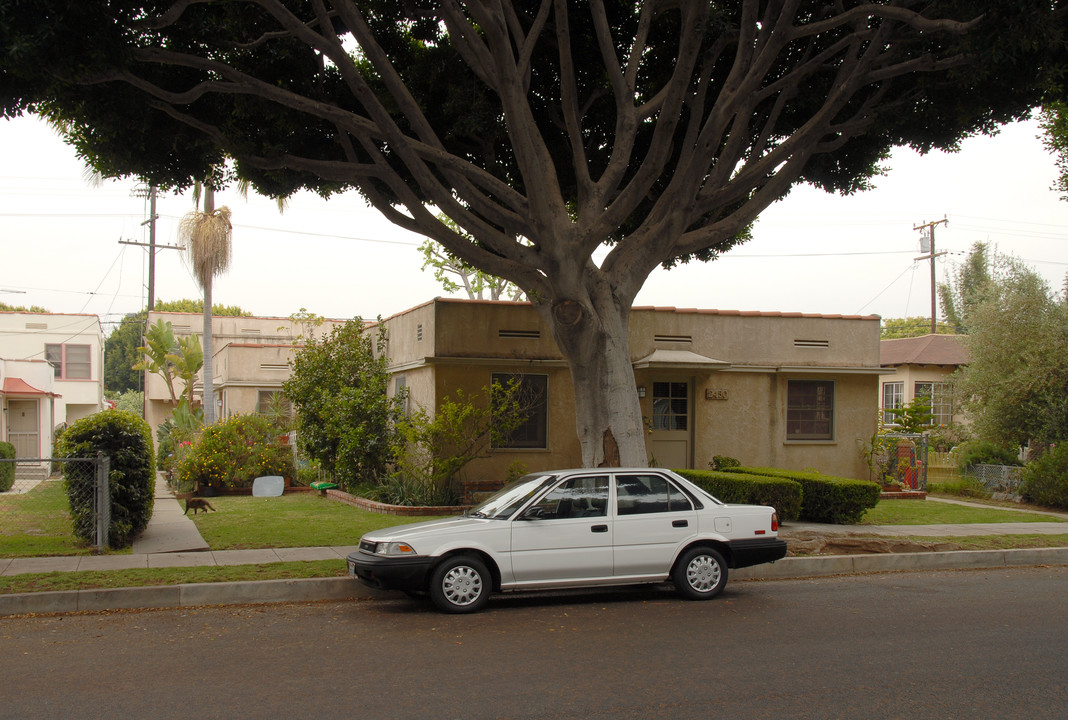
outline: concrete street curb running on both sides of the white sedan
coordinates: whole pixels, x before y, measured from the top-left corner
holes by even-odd
[[[957,550],[867,555],[784,558],[731,572],[735,580],[782,580],[830,575],[909,570],[1068,565],[1068,548]],[[204,605],[309,602],[395,597],[348,577],[200,582],[150,588],[112,588],[0,595],[0,616],[106,610],[186,608]]]

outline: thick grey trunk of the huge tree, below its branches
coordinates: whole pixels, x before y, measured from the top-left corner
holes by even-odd
[[[611,294],[538,306],[575,387],[583,467],[646,467],[645,425],[630,358],[630,307]]]

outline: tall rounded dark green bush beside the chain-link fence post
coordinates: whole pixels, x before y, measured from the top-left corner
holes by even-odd
[[[152,431],[148,424],[124,410],[105,410],[82,418],[67,427],[57,445],[60,457],[95,457],[101,452],[111,458],[108,484],[111,494],[111,527],[108,545],[121,548],[129,545],[148,525],[156,490],[153,461]],[[92,543],[93,473],[64,463],[64,488],[70,499],[70,517],[75,533]]]

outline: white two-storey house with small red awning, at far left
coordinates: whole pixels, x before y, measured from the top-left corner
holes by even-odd
[[[49,457],[54,429],[104,408],[96,315],[0,312],[0,439]]]

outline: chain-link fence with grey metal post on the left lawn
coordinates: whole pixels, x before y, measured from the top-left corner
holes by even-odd
[[[0,534],[40,535],[66,520],[76,537],[104,552],[111,527],[110,469],[111,459],[103,453],[88,458],[0,458]],[[45,501],[60,491],[60,483],[67,502]]]

